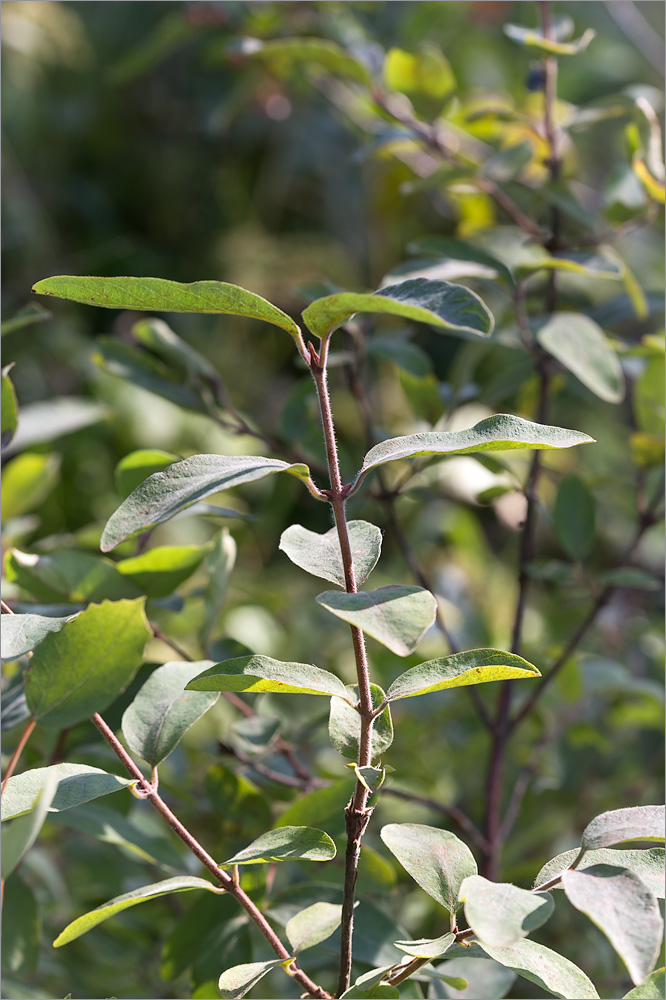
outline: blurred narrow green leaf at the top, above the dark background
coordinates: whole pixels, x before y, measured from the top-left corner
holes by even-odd
[[[282,75],[296,66],[307,66],[316,71],[324,69],[348,76],[359,83],[370,82],[363,63],[329,39],[275,38],[264,42],[258,38],[241,38],[229,45],[227,51],[234,56],[241,54],[261,59]]]

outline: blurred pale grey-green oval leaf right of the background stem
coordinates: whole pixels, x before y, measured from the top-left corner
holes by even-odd
[[[554,313],[537,330],[536,339],[599,399],[607,403],[622,402],[622,366],[603,330],[589,316]]]

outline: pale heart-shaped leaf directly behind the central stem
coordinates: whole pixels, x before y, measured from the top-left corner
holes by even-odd
[[[382,548],[382,533],[367,521],[348,521],[349,542],[357,586],[365,583],[377,565]],[[280,548],[306,573],[345,587],[345,571],[336,528],[324,535],[292,524],[280,537]]]

